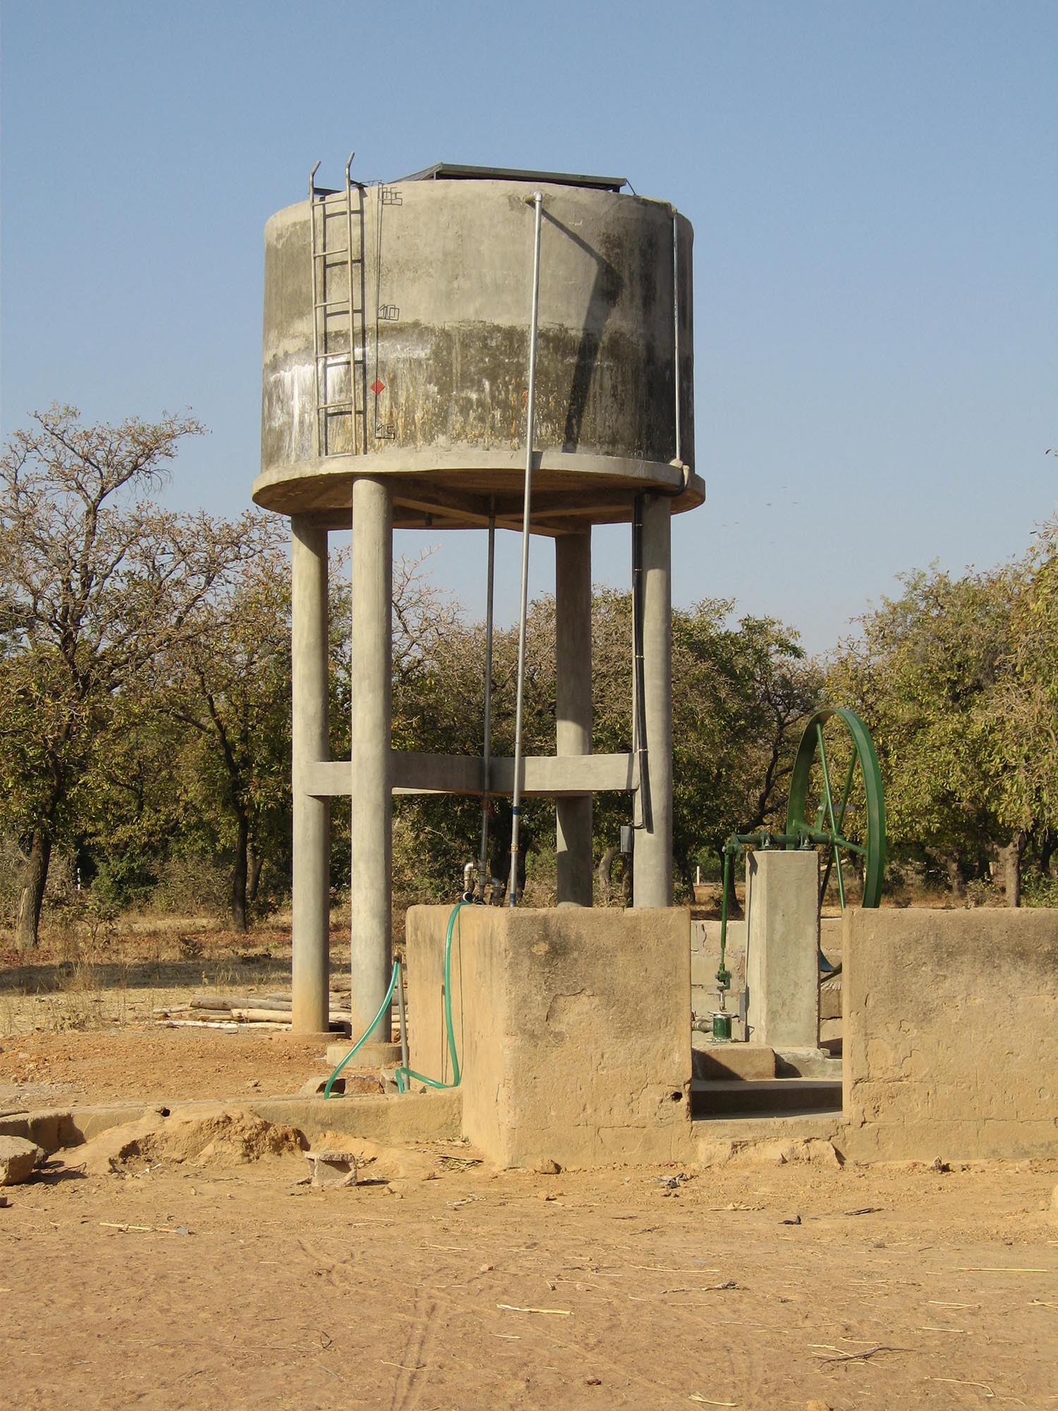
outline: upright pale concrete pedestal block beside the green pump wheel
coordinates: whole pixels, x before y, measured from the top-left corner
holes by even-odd
[[[815,852],[752,852],[746,864],[746,988],[755,1043],[820,1041],[820,861]]]

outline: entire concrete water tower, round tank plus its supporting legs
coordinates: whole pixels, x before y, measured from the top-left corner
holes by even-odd
[[[351,165],[351,159],[350,159]],[[315,178],[315,171],[313,171]],[[591,794],[628,790],[633,903],[671,904],[670,516],[694,474],[688,222],[625,181],[437,165],[265,227],[261,476],[291,516],[293,1027],[327,1027],[329,806],[353,806],[353,1031],[391,969],[395,792],[553,796],[591,904]],[[629,751],[591,753],[591,528],[633,526]],[[392,532],[554,539],[556,755],[391,749]],[[353,531],[353,751],[327,744],[327,532]],[[525,540],[528,549],[528,539]]]

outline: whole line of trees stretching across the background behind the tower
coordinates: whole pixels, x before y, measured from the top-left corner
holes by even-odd
[[[20,937],[52,849],[95,907],[219,904],[237,926],[289,892],[291,604],[285,528],[179,516],[152,499],[188,418],[82,426],[39,413],[0,459],[0,838]],[[330,745],[350,749],[350,601],[336,562]],[[804,720],[821,703],[866,721],[883,770],[893,875],[973,895],[1054,900],[1058,848],[1058,525],[989,573],[910,574],[839,643],[805,658],[773,618],[732,621],[704,600],[673,612],[673,849],[690,885],[732,832],[779,828]],[[632,600],[592,601],[594,748],[632,749]],[[530,605],[526,753],[554,749],[554,600]],[[394,748],[481,753],[484,626],[426,576],[394,574]],[[513,752],[518,639],[498,631],[492,753]],[[838,755],[832,766],[841,772]],[[628,794],[595,799],[600,856],[631,821]],[[509,800],[494,799],[490,868],[506,876]],[[478,799],[395,803],[395,889],[439,899],[477,859]],[[528,800],[528,875],[546,896],[554,809]],[[336,890],[348,885],[348,809],[333,810]],[[1013,886],[1013,893],[1011,893]],[[196,900],[197,899],[197,900]],[[203,900],[205,899],[205,900]],[[87,904],[87,903],[86,903]]]

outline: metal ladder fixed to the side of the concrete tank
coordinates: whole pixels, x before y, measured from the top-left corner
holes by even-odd
[[[316,185],[319,162],[309,174],[317,456],[357,456],[368,449],[365,188],[353,181],[353,157],[346,162],[344,190]]]

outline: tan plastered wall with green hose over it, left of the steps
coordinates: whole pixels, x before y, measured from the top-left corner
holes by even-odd
[[[451,909],[408,913],[411,1065],[450,1077]],[[666,1161],[690,1137],[686,910],[464,907],[453,943],[463,1132],[491,1160]]]

